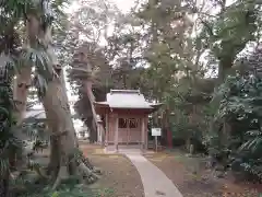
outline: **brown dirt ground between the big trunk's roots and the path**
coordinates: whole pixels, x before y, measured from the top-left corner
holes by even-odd
[[[91,185],[92,188],[105,190],[105,197],[144,196],[140,174],[128,159],[119,154],[104,154],[99,146],[81,144],[81,149],[103,171],[102,178]]]

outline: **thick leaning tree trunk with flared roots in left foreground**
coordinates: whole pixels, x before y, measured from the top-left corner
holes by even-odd
[[[38,22],[39,24],[39,22]],[[93,182],[98,178],[94,172],[94,167],[83,158],[78,149],[78,139],[71,118],[70,106],[68,102],[63,71],[58,67],[51,43],[51,31],[48,27],[44,31],[40,25],[38,36],[43,38],[50,57],[51,65],[49,70],[53,70],[53,78],[47,83],[47,91],[43,95],[41,101],[45,107],[48,127],[51,132],[51,157],[50,157],[50,174],[53,179],[53,188],[60,182],[70,175],[80,175],[81,179]],[[40,74],[40,73],[39,73]]]

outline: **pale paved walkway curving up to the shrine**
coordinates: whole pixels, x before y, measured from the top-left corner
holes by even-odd
[[[153,163],[136,152],[123,152],[138,169],[145,197],[182,197],[172,182]]]

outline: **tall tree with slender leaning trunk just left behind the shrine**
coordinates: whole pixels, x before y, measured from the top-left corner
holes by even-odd
[[[91,141],[96,141],[96,113],[94,111],[93,92],[104,86],[110,79],[110,68],[106,58],[106,48],[100,44],[108,36],[109,24],[118,18],[119,10],[114,3],[107,1],[85,0],[80,2],[80,9],[70,18],[70,31],[66,37],[64,46],[72,51],[74,57],[69,65],[69,80],[76,88],[80,100],[75,109],[91,131]],[[67,53],[67,51],[64,51]],[[64,54],[63,53],[63,54]],[[82,56],[82,59],[79,58]],[[84,58],[83,58],[84,57]],[[86,77],[81,73],[85,70]],[[97,73],[94,76],[94,72]],[[95,84],[94,84],[95,83]],[[94,89],[95,85],[95,89]],[[97,95],[104,100],[103,95]]]

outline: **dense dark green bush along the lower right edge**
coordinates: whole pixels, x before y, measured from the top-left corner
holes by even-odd
[[[217,136],[211,147],[218,152],[227,150],[234,171],[245,172],[262,178],[262,79],[257,73],[237,73],[228,77],[217,91],[221,97],[215,116],[218,125],[226,123],[230,129]],[[218,143],[219,146],[215,147]],[[252,171],[251,171],[252,170]]]

